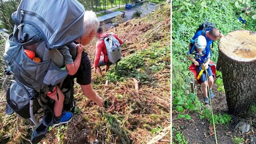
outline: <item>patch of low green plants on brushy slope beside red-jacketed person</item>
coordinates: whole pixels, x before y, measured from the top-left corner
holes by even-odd
[[[158,72],[166,68],[170,63],[164,59],[169,57],[170,51],[170,45],[167,47],[156,46],[124,57],[117,63],[116,70],[115,67],[112,67],[106,73],[106,79],[108,81],[120,81],[134,77],[139,78],[141,82],[152,81],[154,79],[147,73]]]

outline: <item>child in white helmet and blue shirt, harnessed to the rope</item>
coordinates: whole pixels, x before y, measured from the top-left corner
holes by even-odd
[[[188,59],[191,60],[195,66],[197,66],[197,74],[200,75],[201,70],[204,68],[204,70],[207,70],[208,72],[208,84],[206,80],[206,73],[203,72],[202,75],[200,76],[200,80],[202,81],[203,84],[203,91],[204,91],[204,103],[209,104],[209,97],[207,93],[207,85],[209,85],[210,89],[210,98],[213,99],[213,91],[211,89],[213,85],[213,73],[212,70],[209,66],[210,63],[210,49],[206,48],[207,42],[206,38],[204,36],[198,36],[195,39],[195,42],[193,44],[193,47],[189,49],[188,52]],[[192,59],[189,54],[192,54],[195,52],[195,59]]]

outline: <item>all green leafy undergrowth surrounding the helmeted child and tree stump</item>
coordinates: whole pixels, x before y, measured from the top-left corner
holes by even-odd
[[[242,23],[238,23],[237,19],[241,15],[240,8],[244,4],[251,4],[252,11],[245,28],[242,28]],[[203,95],[190,94],[190,82],[195,80],[192,72],[189,71],[191,61],[186,57],[188,52],[188,45],[193,38],[195,31],[199,25],[205,21],[213,23],[223,35],[228,34],[234,30],[251,30],[256,31],[255,20],[255,5],[250,0],[173,0],[172,1],[172,112],[177,116],[177,119],[191,119],[187,114],[201,113],[205,108],[201,102]],[[219,40],[213,44],[211,61],[217,64],[218,58],[218,44]],[[217,89],[224,93],[222,74],[216,72],[214,85]],[[202,86],[201,86],[202,87]],[[196,90],[195,90],[196,91]],[[195,93],[197,93],[196,91]],[[192,106],[192,108],[191,108]],[[252,107],[251,111],[256,108]],[[173,114],[173,115],[174,115]],[[202,114],[197,114],[202,119],[207,119],[209,123],[213,123],[210,110],[203,110]],[[215,124],[228,125],[231,121],[231,116],[228,114],[214,114]],[[179,133],[178,133],[179,134]],[[173,133],[173,144],[182,143],[182,136],[176,136]]]

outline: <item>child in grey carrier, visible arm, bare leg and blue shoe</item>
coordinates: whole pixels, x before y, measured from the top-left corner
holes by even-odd
[[[80,66],[81,54],[84,47],[80,44],[77,44],[76,47],[77,47],[77,54],[74,61],[72,59],[72,56],[69,53],[68,47],[65,46],[61,49],[58,49],[64,57],[64,63],[69,75],[74,75]],[[61,89],[57,85],[55,85],[53,87],[52,92],[49,91],[47,95],[51,99],[55,100],[55,103],[54,103],[55,117],[53,119],[52,125],[56,126],[56,125],[68,123],[69,121],[71,121],[73,117],[73,113],[62,111],[65,97],[64,97],[64,94],[61,92]]]

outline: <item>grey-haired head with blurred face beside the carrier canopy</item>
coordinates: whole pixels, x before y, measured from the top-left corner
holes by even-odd
[[[96,35],[100,22],[93,11],[85,11],[84,15],[84,30],[85,34],[82,36],[82,45],[87,45]]]

